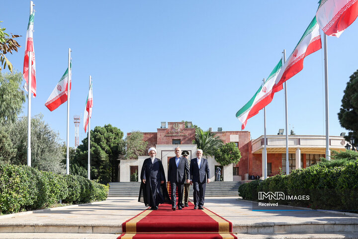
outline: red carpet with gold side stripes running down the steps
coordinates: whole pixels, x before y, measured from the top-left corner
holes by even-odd
[[[122,224],[118,239],[236,239],[232,223],[207,210],[193,210],[194,205],[172,211],[162,204],[159,210],[145,210]]]

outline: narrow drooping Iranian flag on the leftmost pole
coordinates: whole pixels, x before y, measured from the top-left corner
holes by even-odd
[[[24,57],[24,67],[23,67],[23,78],[25,79],[24,88],[28,91],[28,71],[29,71],[29,52],[32,52],[31,59],[31,92],[33,97],[36,97],[36,65],[35,65],[35,51],[33,45],[33,20],[35,12],[30,14],[29,23],[27,25],[26,31],[26,44],[25,44],[25,57]]]

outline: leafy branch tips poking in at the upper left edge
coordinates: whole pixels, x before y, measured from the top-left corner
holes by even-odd
[[[2,21],[0,21],[2,22]],[[0,71],[7,68],[12,72],[12,64],[11,62],[6,58],[5,54],[10,53],[12,54],[12,51],[17,52],[17,47],[21,47],[14,38],[19,37],[19,35],[13,35],[11,34],[11,37],[9,34],[4,32],[6,28],[0,27]]]

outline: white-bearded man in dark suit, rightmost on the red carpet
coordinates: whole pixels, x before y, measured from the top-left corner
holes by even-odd
[[[202,150],[196,150],[196,158],[190,161],[190,184],[193,184],[194,210],[203,210],[206,182],[210,183],[210,169],[206,158],[202,157]]]

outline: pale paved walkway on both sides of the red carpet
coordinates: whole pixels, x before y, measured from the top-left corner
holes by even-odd
[[[358,215],[354,214],[313,210],[259,212],[252,210],[252,202],[238,200],[237,197],[206,198],[204,207],[232,222],[233,232],[238,234],[239,238],[253,238],[253,235],[247,233],[256,234],[255,238],[265,238],[268,234],[273,234],[272,232],[275,234],[274,238],[290,238],[284,234],[291,232],[301,232],[299,238],[307,238],[305,233],[309,233],[311,229],[322,233],[320,238],[332,238],[324,236],[333,235],[332,232],[342,232],[335,234],[336,238],[358,238]],[[83,233],[82,236],[104,232],[120,233],[123,222],[145,209],[144,204],[137,202],[136,198],[109,198],[104,202],[80,206],[3,215],[0,216],[0,238],[6,238],[10,232],[29,233],[29,227],[36,227],[33,232],[37,233],[72,232]],[[300,210],[292,207],[286,209]],[[280,233],[283,236],[279,235]]]

